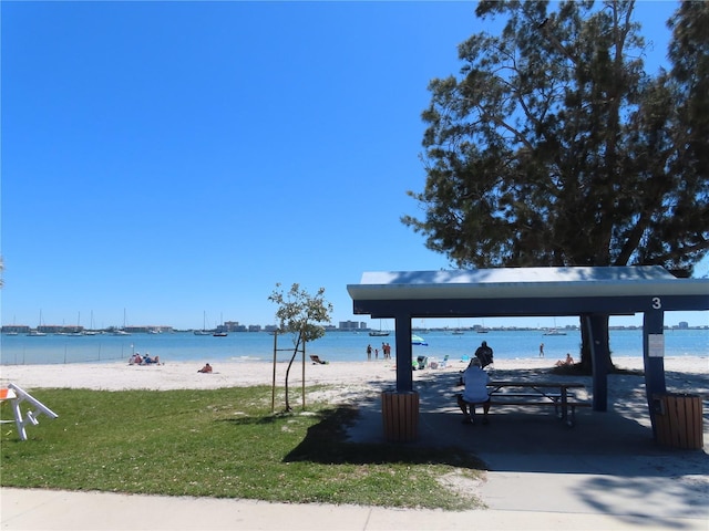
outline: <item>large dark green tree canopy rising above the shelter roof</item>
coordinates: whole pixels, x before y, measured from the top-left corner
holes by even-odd
[[[499,35],[430,83],[423,218],[458,267],[662,266],[709,249],[709,2],[671,19],[672,69],[644,71],[633,1],[482,1]],[[650,4],[641,9],[653,9]]]

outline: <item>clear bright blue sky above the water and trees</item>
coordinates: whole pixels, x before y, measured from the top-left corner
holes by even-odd
[[[675,7],[638,6],[650,71]],[[400,217],[474,3],[0,9],[3,324],[268,324],[277,282],[369,322],[346,290],[363,271],[449,267]]]

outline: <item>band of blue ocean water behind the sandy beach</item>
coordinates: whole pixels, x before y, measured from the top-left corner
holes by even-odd
[[[486,334],[465,332],[454,335],[445,331],[421,332],[429,346],[413,346],[413,355],[436,356],[446,354],[453,360],[472,355],[481,341],[486,341],[494,350],[495,357],[538,357],[540,344],[544,343],[545,357],[561,360],[566,353],[577,357],[580,348],[580,332],[566,331],[567,335],[543,335],[542,331],[490,331]],[[380,350],[382,342],[392,346],[395,356],[394,335],[370,337],[366,332],[329,332],[315,342],[308,343],[307,354],[317,354],[327,361],[364,361],[367,345]],[[285,361],[292,352],[289,335],[278,337],[277,358]],[[640,330],[612,330],[610,350],[613,356],[643,356],[643,333]],[[288,352],[290,351],[290,352]],[[230,333],[226,337],[199,336],[192,332],[165,334],[133,334],[125,336],[93,335],[66,336],[27,335],[0,336],[0,363],[52,364],[115,362],[126,360],[134,352],[158,355],[161,361],[264,361],[274,358],[274,336],[265,332]],[[709,330],[665,331],[666,356],[709,355]],[[372,358],[374,356],[372,355]]]

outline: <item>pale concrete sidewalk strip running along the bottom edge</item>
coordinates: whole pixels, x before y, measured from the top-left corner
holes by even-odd
[[[538,478],[536,478],[538,479]],[[535,480],[536,480],[535,479]],[[537,483],[537,489],[544,485]],[[382,509],[1,489],[3,530],[707,530],[706,518],[520,510]]]

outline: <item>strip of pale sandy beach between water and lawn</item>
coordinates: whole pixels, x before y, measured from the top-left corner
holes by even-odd
[[[524,371],[526,375],[546,373],[556,360],[526,358],[500,360],[495,362],[493,377],[510,377],[510,372]],[[619,368],[643,369],[640,357],[620,357],[614,360]],[[379,392],[395,385],[395,362],[340,362],[327,365],[306,363],[306,383],[308,385],[333,385],[348,387],[350,392]],[[282,385],[286,363],[276,364],[276,383]],[[440,377],[446,373],[458,373],[465,367],[460,360],[450,362],[445,368],[414,371],[417,382]],[[119,363],[88,363],[66,365],[3,365],[0,383],[13,383],[25,389],[42,387],[90,388],[103,391],[126,389],[213,389],[250,385],[270,385],[274,366],[265,362],[223,362],[214,364],[214,373],[201,374],[199,364],[178,362],[163,365],[129,365]],[[676,393],[698,393],[705,399],[709,397],[709,357],[682,356],[666,357],[665,369],[667,388]],[[294,363],[290,371],[290,384],[301,383],[302,364]],[[638,392],[644,378],[635,375],[610,375],[609,388],[613,394],[626,395]],[[587,384],[589,377],[574,377]]]

